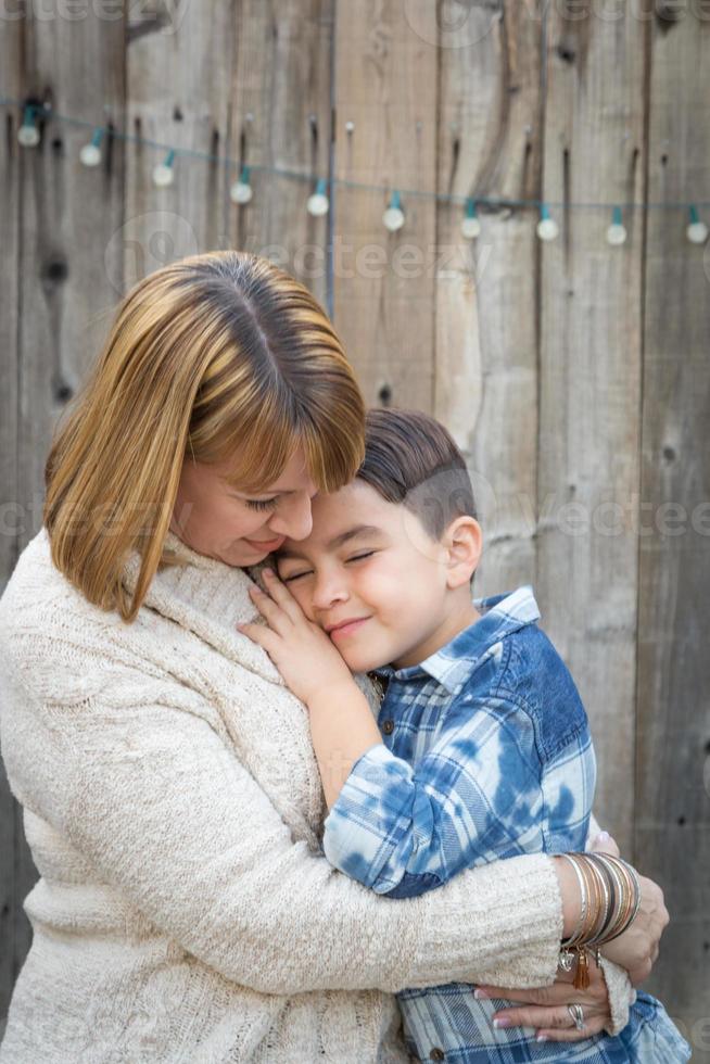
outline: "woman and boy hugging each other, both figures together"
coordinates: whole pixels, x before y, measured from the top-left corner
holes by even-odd
[[[0,600],[40,874],[2,1064],[688,1059],[533,591],[473,597],[462,456],[366,413],[306,289],[140,281],[46,482]]]

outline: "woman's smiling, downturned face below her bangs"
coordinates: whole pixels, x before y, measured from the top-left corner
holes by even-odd
[[[286,536],[303,540],[313,525],[316,485],[296,451],[279,479],[252,494],[225,480],[227,464],[182,464],[170,530],[198,554],[228,566],[255,566]]]

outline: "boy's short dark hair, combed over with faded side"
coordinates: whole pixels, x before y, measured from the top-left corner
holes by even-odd
[[[440,540],[457,517],[476,517],[466,461],[443,425],[419,410],[368,410],[365,460],[356,477],[402,503]]]

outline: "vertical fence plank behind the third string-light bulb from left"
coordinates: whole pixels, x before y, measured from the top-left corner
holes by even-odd
[[[233,7],[220,0],[170,5],[152,20],[140,5],[134,14],[127,26],[127,132],[163,147],[126,145],[124,220],[116,238],[126,290],[177,258],[228,244],[224,160],[230,152],[234,36]],[[153,169],[168,148],[178,150],[174,182],[157,188]]]

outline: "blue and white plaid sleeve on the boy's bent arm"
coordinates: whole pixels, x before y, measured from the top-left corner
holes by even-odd
[[[378,894],[411,897],[473,864],[544,849],[533,724],[508,699],[464,696],[415,765],[384,744],[353,765],[324,851]]]

